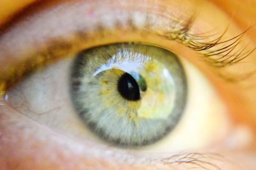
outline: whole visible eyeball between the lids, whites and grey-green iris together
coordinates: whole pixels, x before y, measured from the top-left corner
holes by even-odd
[[[186,60],[182,60],[182,64],[179,64],[178,60],[181,57],[161,47],[151,47],[136,43],[134,45],[126,45],[130,47],[132,52],[130,55],[126,54],[124,56],[130,57],[124,58],[122,55],[116,57],[113,54],[114,59],[108,59],[109,55],[115,53],[120,46],[124,48],[122,45],[125,46],[125,44],[114,44],[91,48],[88,49],[87,53],[85,50],[79,53],[77,57],[63,60],[45,68],[44,71],[31,75],[6,94],[8,103],[20,113],[51,127],[61,134],[64,133],[69,136],[71,134],[97,145],[112,148],[127,148],[129,146],[127,150],[141,150],[141,153],[180,152],[184,149],[193,151],[207,147],[211,148],[212,144],[222,143],[227,134],[232,132],[230,129],[231,124],[228,121],[227,108],[225,108],[220,97],[215,94],[211,83],[205,80],[205,77],[195,66],[192,66]],[[173,79],[173,82],[168,83],[168,88],[171,85],[175,85],[173,88],[177,90],[175,92],[176,102],[173,103],[173,108],[169,108],[170,104],[164,108],[161,106],[163,94],[166,96],[164,101],[172,99],[172,96],[166,91],[159,94],[158,105],[156,101],[154,102],[154,98],[144,98],[147,97],[147,90],[151,92],[149,95],[153,95],[156,98],[157,91],[160,90],[159,92],[161,92],[164,88],[164,81],[167,81],[165,77],[164,79],[159,79],[161,74],[157,70],[160,69],[161,71],[161,67],[156,67],[155,64],[155,69],[154,67],[152,68],[151,64],[149,65],[150,68],[148,69],[152,73],[150,71],[139,71],[147,82],[147,90],[146,92],[141,92],[141,100],[132,101],[133,104],[131,104],[131,101],[127,101],[127,99],[125,100],[123,96],[119,95],[118,87],[116,87],[118,78],[125,73],[124,71],[131,72],[128,63],[122,61],[132,61],[132,67],[135,67],[138,60],[150,59],[143,59],[143,55],[131,57],[134,53],[140,52],[145,53],[150,58],[152,57],[155,64],[159,62],[160,66],[163,66],[161,63],[164,63],[166,69],[169,70],[168,72],[172,77],[168,78]],[[106,53],[108,55],[105,55]],[[120,60],[119,64],[117,64],[118,59]],[[134,61],[134,59],[137,60]],[[72,65],[73,62],[74,64]],[[107,63],[106,65],[104,65],[105,62]],[[111,69],[112,67],[115,67],[115,71]],[[142,64],[143,67],[147,68],[147,63],[145,63],[145,66]],[[182,67],[186,69],[186,76],[182,73]],[[118,72],[120,75],[117,74],[117,78],[113,76],[120,69],[123,70]],[[105,72],[105,70],[108,72]],[[154,74],[156,74],[156,77],[154,77]],[[69,75],[70,79],[68,78]],[[101,78],[104,78],[104,80],[101,80]],[[157,79],[154,80],[154,78]],[[159,81],[158,85],[157,81]],[[188,81],[188,87],[186,87],[186,81]],[[101,82],[104,83],[101,84]],[[70,84],[71,86],[69,87]],[[104,93],[102,93],[101,88],[104,87],[108,89],[108,92],[104,89]],[[188,94],[186,92],[187,88]],[[70,92],[68,93],[69,90]],[[204,94],[199,93],[200,90],[204,91]],[[153,101],[153,104],[151,101]],[[144,102],[146,105],[140,105],[140,102]],[[125,106],[127,103],[130,104]],[[129,112],[124,109],[134,109],[137,106],[139,106],[138,115],[133,115],[131,124],[124,124],[124,122],[130,120],[130,117],[125,117]],[[154,107],[152,108],[152,106]],[[186,109],[185,111],[183,111],[183,107]],[[159,108],[161,110],[157,111]],[[164,109],[167,109],[167,111],[164,112]],[[99,113],[97,113],[98,110],[100,111]],[[151,115],[149,115],[150,113]],[[166,113],[167,116],[170,114],[170,117],[166,118]],[[146,118],[149,118],[150,124],[145,122]],[[89,121],[92,121],[93,125]],[[123,122],[123,124],[120,124],[120,122]],[[134,126],[134,123],[137,125]],[[110,127],[109,124],[111,124]],[[147,128],[152,128],[151,125],[153,125],[154,131],[157,131],[156,133],[152,130],[147,130]],[[172,125],[172,129],[166,133],[164,128],[167,127],[169,129],[170,125]],[[136,134],[137,136],[141,135],[140,137],[130,138],[129,134],[131,132],[129,132],[129,129],[132,129],[132,127],[140,127],[139,133]],[[116,129],[122,129],[122,131]],[[143,129],[143,134],[141,134],[140,129]],[[108,133],[109,131],[110,134]],[[116,133],[113,131],[116,131]],[[160,134],[160,136],[154,136],[153,139],[149,138],[148,141],[144,141],[152,133],[155,135]],[[122,136],[122,139],[115,141],[118,136]],[[138,141],[137,138],[141,141]],[[136,143],[134,143],[134,139],[137,139]],[[150,143],[153,145],[148,145]],[[234,141],[234,143],[239,143],[239,141]]]

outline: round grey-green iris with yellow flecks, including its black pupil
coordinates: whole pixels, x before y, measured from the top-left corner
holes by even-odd
[[[84,124],[104,141],[144,146],[177,125],[186,103],[186,76],[163,48],[121,43],[77,55],[70,95]]]

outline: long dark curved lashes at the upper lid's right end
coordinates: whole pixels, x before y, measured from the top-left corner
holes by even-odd
[[[188,46],[192,50],[200,51],[204,57],[204,60],[208,62],[210,66],[214,67],[225,67],[237,64],[241,60],[248,57],[256,49],[248,49],[248,46],[238,48],[237,45],[243,41],[244,34],[252,29],[249,27],[245,31],[241,32],[237,36],[222,40],[225,36],[227,29],[218,36],[216,39],[207,42],[207,39],[212,38],[212,35],[195,35],[189,33],[191,25],[195,20],[195,15],[189,18],[188,21],[183,22],[182,29],[178,32],[164,32],[164,37],[167,39],[181,41],[184,45]],[[173,34],[177,34],[173,36]]]

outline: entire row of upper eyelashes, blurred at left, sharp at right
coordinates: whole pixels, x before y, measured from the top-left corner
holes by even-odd
[[[195,51],[200,51],[203,59],[210,66],[225,67],[237,64],[241,60],[248,57],[255,50],[255,48],[253,48],[252,50],[248,50],[247,46],[241,49],[237,49],[239,43],[241,43],[243,39],[244,34],[252,27],[246,29],[246,31],[244,32],[241,32],[241,34],[235,36],[234,38],[222,41],[225,33],[227,32],[226,29],[218,38],[211,41],[208,40],[207,42],[207,39],[212,39],[212,36],[214,36],[214,34],[204,36],[200,34],[190,33],[191,25],[195,20],[195,15],[192,15],[189,20],[180,20],[170,22],[169,28],[171,28],[171,31],[168,30],[168,28],[164,28],[163,32],[155,33],[170,40],[180,41],[185,46],[188,46],[188,48],[191,48]],[[147,17],[146,23],[148,23],[144,27],[144,29],[146,30],[153,28],[155,24],[154,19],[150,18],[149,15]],[[127,24],[128,27],[134,30],[136,29],[136,26],[132,22],[131,18],[128,18]],[[116,27],[118,27],[118,23],[116,24]],[[99,28],[99,32],[104,31],[104,27],[100,27],[99,25]],[[153,29],[152,32],[154,31],[156,30]],[[81,41],[86,39],[85,32],[77,31],[75,33],[77,38],[81,39]],[[72,45],[71,43],[72,42],[67,42],[65,40],[61,41],[61,39],[50,39],[47,49],[43,50],[42,52],[36,53],[36,57],[31,57],[31,60],[17,63],[17,66],[13,66],[12,72],[9,71],[8,73],[6,73],[5,76],[0,76],[0,95],[4,94],[7,87],[10,87],[10,85],[19,81],[23,76],[34,71],[35,67],[43,67],[52,60],[58,60],[61,55],[65,55],[65,53],[72,51],[74,45]],[[19,72],[16,72],[15,68],[19,68]]]

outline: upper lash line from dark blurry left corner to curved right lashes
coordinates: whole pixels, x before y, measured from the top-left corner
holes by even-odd
[[[166,38],[170,41],[178,41],[179,43],[188,46],[188,48],[202,53],[205,62],[213,67],[225,67],[236,64],[248,57],[248,55],[255,50],[253,49],[251,51],[244,52],[246,48],[243,48],[242,50],[234,51],[246,31],[225,41],[221,41],[221,39],[227,30],[224,31],[221,36],[211,41],[207,39],[212,39],[212,36],[193,34],[193,32],[190,31],[190,28],[195,18],[195,15],[191,15],[187,20],[182,18],[179,20],[170,20],[169,18],[170,22],[168,23],[167,29],[164,27],[161,27],[161,29],[155,29],[157,21],[147,13],[147,21],[145,22],[146,24],[144,27],[137,27],[132,18],[129,17],[126,20],[126,30],[131,29],[132,31],[138,32],[150,32],[152,35]],[[122,25],[120,25],[118,20],[116,20],[115,27],[113,29],[106,29],[104,26],[98,24],[97,31],[93,34],[98,34],[99,37],[103,37],[104,34],[111,34],[111,31],[114,31],[115,29],[122,29]],[[145,34],[143,34],[143,36],[145,36]],[[20,81],[27,74],[33,73],[33,71],[38,69],[38,67],[42,68],[47,64],[60,59],[63,55],[77,52],[76,49],[79,49],[77,46],[81,46],[80,43],[84,43],[86,39],[90,39],[90,35],[87,32],[79,31],[79,29],[74,32],[74,37],[74,39],[68,41],[64,39],[61,40],[61,38],[48,39],[47,41],[49,43],[47,43],[47,47],[45,47],[44,50],[36,52],[31,57],[28,57],[29,60],[15,62],[8,71],[2,70],[2,73],[0,74],[0,94],[3,95],[9,87],[12,87],[12,85],[17,81]],[[221,45],[225,43],[229,44],[222,47]]]

